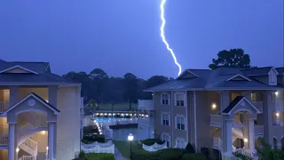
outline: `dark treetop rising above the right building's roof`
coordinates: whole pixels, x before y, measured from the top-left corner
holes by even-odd
[[[249,55],[245,54],[242,49],[223,50],[217,53],[217,57],[217,60],[213,59],[213,63],[209,64],[209,68],[250,68]]]

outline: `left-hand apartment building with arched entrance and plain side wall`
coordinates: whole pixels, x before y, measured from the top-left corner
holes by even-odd
[[[47,62],[0,60],[0,159],[67,160],[80,151],[81,84]]]

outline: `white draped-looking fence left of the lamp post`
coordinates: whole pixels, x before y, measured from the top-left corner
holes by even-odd
[[[85,153],[112,153],[114,154],[114,143],[108,141],[106,143],[94,142],[92,144],[82,144],[82,150]]]

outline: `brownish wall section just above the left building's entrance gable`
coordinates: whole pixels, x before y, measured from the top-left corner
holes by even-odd
[[[43,100],[48,101],[48,89],[36,87],[20,87],[18,91],[18,100],[22,100],[31,92],[35,92],[36,95],[40,96]]]

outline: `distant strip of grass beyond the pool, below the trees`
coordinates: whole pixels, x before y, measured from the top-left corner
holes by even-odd
[[[131,110],[137,110],[137,104],[132,103]],[[112,110],[111,103],[99,103],[99,110]],[[122,102],[122,103],[115,103],[114,110],[121,110],[121,111],[128,111],[130,110],[130,103]]]

